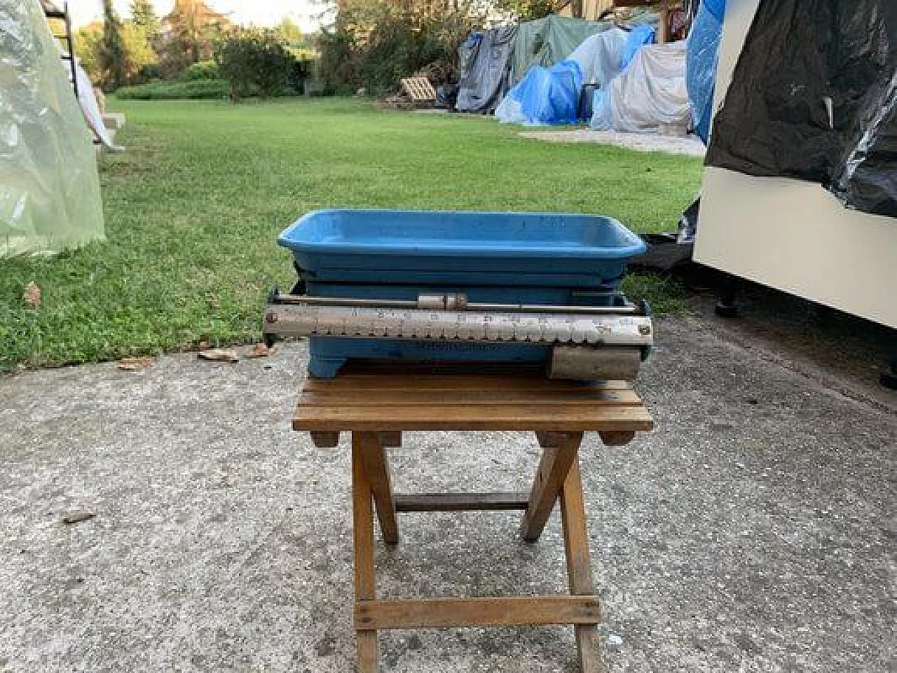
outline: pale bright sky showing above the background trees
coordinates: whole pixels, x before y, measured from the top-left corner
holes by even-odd
[[[321,5],[313,0],[205,0],[215,11],[227,14],[232,22],[257,26],[274,26],[284,16],[289,16],[306,32],[316,30],[315,16],[321,13]],[[61,3],[60,3],[61,4]],[[114,0],[118,13],[127,18],[130,15],[130,0]],[[171,11],[174,0],[153,0],[156,13],[160,16]],[[100,0],[68,0],[69,13],[75,27],[80,27],[100,18]]]

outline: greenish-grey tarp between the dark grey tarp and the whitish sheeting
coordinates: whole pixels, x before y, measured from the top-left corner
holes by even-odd
[[[533,65],[556,65],[570,56],[590,35],[613,27],[610,22],[583,21],[556,14],[521,23],[511,56],[511,84],[523,79]]]

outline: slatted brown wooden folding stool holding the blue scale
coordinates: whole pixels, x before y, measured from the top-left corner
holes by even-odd
[[[318,446],[352,432],[355,631],[358,670],[375,673],[377,631],[396,628],[572,624],[583,673],[602,670],[588,533],[577,452],[582,434],[626,444],[653,421],[631,385],[578,384],[527,375],[360,373],[309,379],[292,421]],[[527,493],[394,494],[385,448],[404,430],[534,430],[544,448]],[[373,506],[387,544],[398,542],[396,512],[524,510],[522,534],[535,542],[561,501],[570,596],[378,600]]]

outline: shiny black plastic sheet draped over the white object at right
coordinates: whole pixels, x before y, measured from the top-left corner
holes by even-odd
[[[897,0],[761,0],[707,164],[897,216]]]

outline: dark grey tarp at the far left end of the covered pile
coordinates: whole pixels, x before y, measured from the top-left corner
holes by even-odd
[[[474,39],[476,35],[479,39]],[[492,113],[509,87],[510,56],[517,26],[501,26],[471,33],[458,47],[458,112]]]

